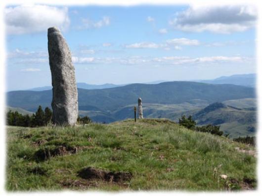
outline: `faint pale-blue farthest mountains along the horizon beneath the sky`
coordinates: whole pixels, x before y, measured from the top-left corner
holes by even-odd
[[[256,74],[242,74],[242,75],[231,75],[231,76],[222,76],[213,80],[192,80],[193,82],[203,82],[203,83],[209,83],[209,84],[234,84],[234,85],[240,85],[240,86],[247,86],[247,87],[255,87],[256,86]],[[165,80],[157,80],[152,82],[147,82],[144,84],[159,84],[167,82]],[[87,84],[87,83],[77,83],[77,88],[79,89],[109,89],[109,88],[115,88],[115,87],[121,87],[126,86],[129,84]],[[46,91],[51,90],[51,86],[44,86],[44,87],[37,87],[28,89],[28,91]]]

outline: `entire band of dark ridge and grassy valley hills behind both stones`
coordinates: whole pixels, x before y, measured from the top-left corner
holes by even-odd
[[[142,98],[145,118],[178,121],[181,115],[192,115],[198,124],[220,125],[221,130],[231,133],[231,136],[255,134],[255,89],[232,84],[163,82],[78,89],[79,115],[105,123],[133,118],[133,106],[137,105],[139,97]],[[26,113],[24,110],[35,112],[39,105],[51,108],[51,100],[51,90],[7,93],[9,108],[23,113]],[[214,102],[223,103],[209,106]]]

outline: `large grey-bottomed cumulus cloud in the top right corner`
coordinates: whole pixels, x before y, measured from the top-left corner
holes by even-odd
[[[186,32],[243,32],[254,27],[257,10],[251,5],[191,6],[169,23]]]

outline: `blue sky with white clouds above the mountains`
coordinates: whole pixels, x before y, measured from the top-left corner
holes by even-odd
[[[47,28],[72,52],[77,82],[143,83],[256,72],[249,5],[5,8],[7,91],[51,85]]]

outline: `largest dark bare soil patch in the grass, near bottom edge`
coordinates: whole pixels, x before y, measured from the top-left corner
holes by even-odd
[[[78,176],[84,179],[100,179],[108,182],[125,182],[132,178],[131,172],[108,172],[93,167],[86,167],[78,172]]]

